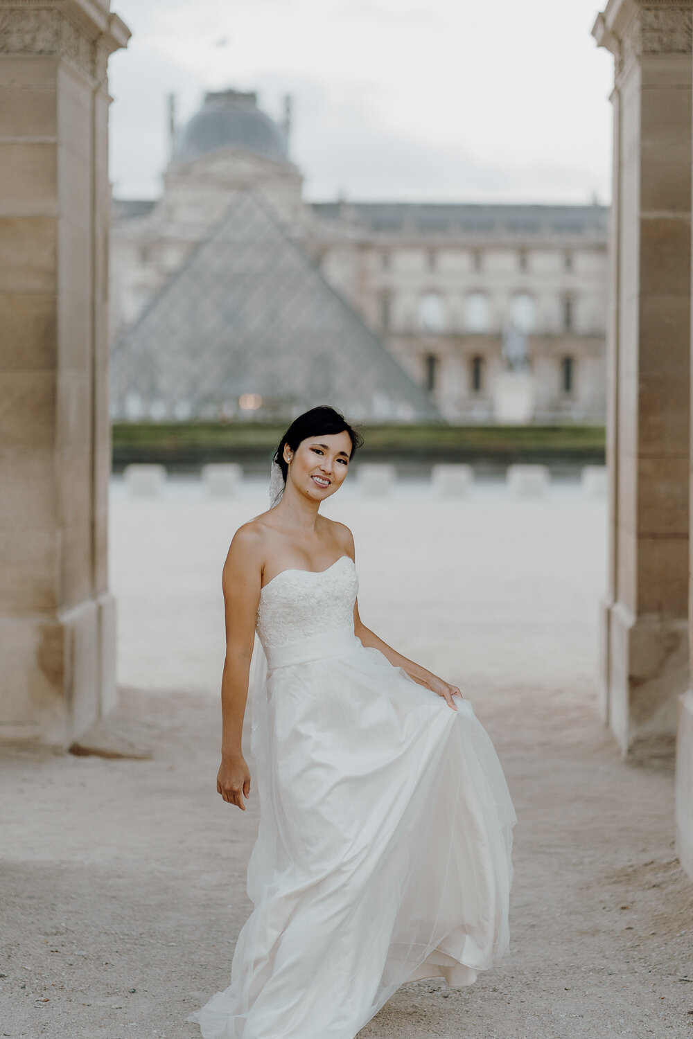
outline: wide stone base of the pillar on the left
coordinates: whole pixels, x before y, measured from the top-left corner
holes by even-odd
[[[115,601],[0,617],[0,741],[69,747],[116,703]]]

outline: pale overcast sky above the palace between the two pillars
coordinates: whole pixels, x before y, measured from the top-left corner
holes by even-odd
[[[112,0],[132,30],[110,59],[116,197],[153,198],[166,95],[257,90],[305,195],[587,203],[611,194],[613,59],[593,0]]]

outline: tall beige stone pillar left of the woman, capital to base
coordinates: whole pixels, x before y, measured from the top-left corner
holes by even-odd
[[[115,697],[107,586],[110,0],[0,0],[0,739]]]

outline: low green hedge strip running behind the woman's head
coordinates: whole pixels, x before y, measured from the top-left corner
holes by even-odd
[[[205,462],[267,464],[286,425],[264,423],[118,423],[113,426],[113,467],[160,462],[194,469]],[[602,426],[359,426],[365,437],[356,458],[430,464],[465,461],[502,467],[514,461],[603,464]]]

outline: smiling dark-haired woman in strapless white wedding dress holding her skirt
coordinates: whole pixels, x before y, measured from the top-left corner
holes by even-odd
[[[353,1039],[405,982],[471,985],[508,951],[516,816],[491,741],[362,621],[351,531],[320,514],[362,443],[331,407],[295,419],[224,564],[217,791],[245,809],[249,692],[260,829],[231,984],[188,1018],[205,1039]]]

